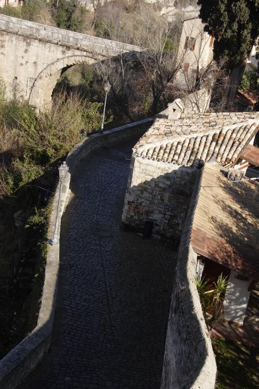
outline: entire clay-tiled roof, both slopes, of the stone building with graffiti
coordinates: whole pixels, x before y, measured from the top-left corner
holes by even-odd
[[[211,157],[233,164],[259,130],[259,112],[192,113],[158,117],[133,149],[135,157],[190,166]]]

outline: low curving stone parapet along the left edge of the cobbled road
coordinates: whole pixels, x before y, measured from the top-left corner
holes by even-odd
[[[60,183],[57,186],[50,218],[49,240],[54,237],[57,208],[60,196],[60,208],[58,211],[59,231],[61,216],[68,198],[70,177],[78,162],[91,151],[102,146],[141,136],[153,119],[145,119],[121,126],[104,133],[90,135],[78,143],[68,154],[66,163],[69,167],[60,193]],[[36,328],[0,361],[0,387],[1,389],[14,389],[39,363],[48,352],[56,306],[56,295],[59,275],[59,245],[49,246],[47,264],[45,270],[45,283],[42,291],[41,307]]]

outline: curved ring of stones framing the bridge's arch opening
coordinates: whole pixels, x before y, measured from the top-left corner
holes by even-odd
[[[29,95],[29,104],[39,110],[51,108],[52,92],[62,74],[63,69],[70,66],[86,63],[93,64],[97,60],[91,56],[74,55],[58,59],[46,66],[34,81]]]

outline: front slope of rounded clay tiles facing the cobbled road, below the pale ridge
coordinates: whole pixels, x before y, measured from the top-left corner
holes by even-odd
[[[259,121],[206,134],[185,136],[137,148],[135,156],[185,166],[199,160],[208,162],[210,158],[214,158],[219,164],[232,164],[258,129]]]

